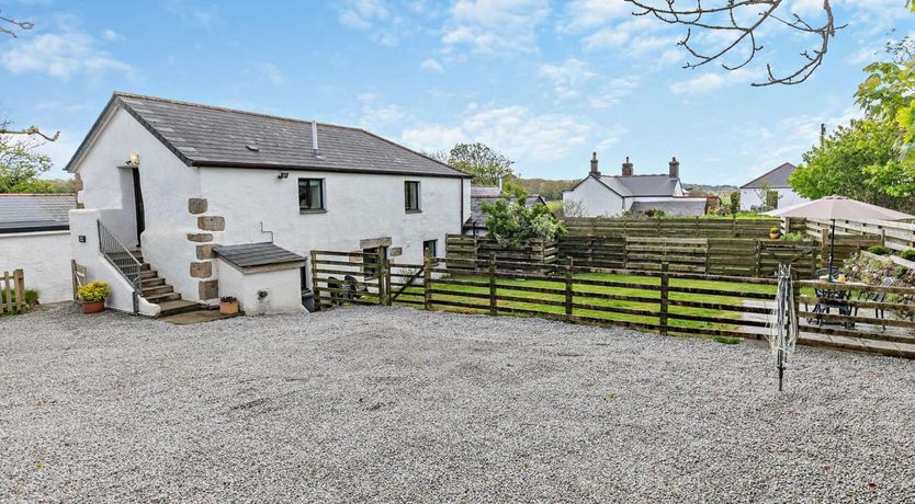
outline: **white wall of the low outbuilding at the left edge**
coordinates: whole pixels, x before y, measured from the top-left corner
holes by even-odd
[[[16,268],[25,275],[25,288],[38,291],[38,302],[71,300],[70,232],[0,234],[0,274]]]

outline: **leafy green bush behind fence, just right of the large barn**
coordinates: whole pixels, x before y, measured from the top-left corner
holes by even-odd
[[[530,240],[554,240],[566,230],[546,205],[527,205],[528,194],[521,187],[504,192],[504,199],[484,203],[486,228],[490,237],[504,245],[523,245]]]

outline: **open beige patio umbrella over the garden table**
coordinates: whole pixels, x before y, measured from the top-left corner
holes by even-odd
[[[792,205],[766,211],[762,215],[772,217],[804,217],[807,219],[831,220],[829,229],[829,279],[833,273],[833,248],[836,244],[836,220],[904,220],[915,219],[915,216],[891,210],[882,206],[859,202],[845,196],[826,196],[812,202]]]

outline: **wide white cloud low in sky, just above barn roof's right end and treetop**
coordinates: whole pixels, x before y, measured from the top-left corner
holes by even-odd
[[[512,105],[471,110],[456,125],[422,124],[408,127],[400,140],[416,149],[450,149],[460,141],[481,141],[505,152],[519,167],[567,160],[586,146],[608,147],[619,141],[621,126],[600,126],[568,114],[534,114]]]

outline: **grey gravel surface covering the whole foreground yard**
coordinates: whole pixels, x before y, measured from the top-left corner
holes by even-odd
[[[915,362],[348,308],[0,319],[0,501],[912,502]]]

